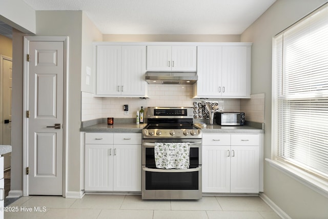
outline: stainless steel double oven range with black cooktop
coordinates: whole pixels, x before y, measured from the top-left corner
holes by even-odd
[[[142,199],[200,199],[202,132],[193,124],[193,108],[149,107],[147,117],[142,129]],[[189,168],[156,168],[155,143],[189,143]]]

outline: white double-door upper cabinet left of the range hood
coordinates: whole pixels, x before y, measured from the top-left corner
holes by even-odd
[[[146,46],[97,45],[96,96],[147,96]]]

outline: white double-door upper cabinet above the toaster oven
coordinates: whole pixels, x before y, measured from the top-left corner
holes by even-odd
[[[251,45],[198,46],[194,98],[250,98]]]

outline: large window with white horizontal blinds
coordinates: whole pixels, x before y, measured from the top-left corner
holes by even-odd
[[[328,180],[328,9],[273,39],[275,158]]]

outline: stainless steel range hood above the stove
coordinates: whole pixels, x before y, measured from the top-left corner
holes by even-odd
[[[146,81],[148,84],[192,85],[197,82],[197,79],[197,72],[146,72]]]

